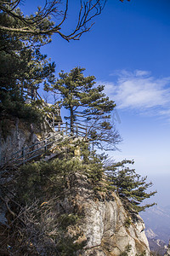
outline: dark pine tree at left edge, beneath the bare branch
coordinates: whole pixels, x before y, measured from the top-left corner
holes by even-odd
[[[9,22],[10,21],[10,22]],[[14,19],[0,14],[0,24],[17,26]],[[39,37],[41,40],[41,37]],[[32,42],[35,42],[33,44]],[[54,62],[40,53],[37,39],[20,37],[10,32],[0,33],[0,112],[16,113],[24,108],[24,90],[37,90],[39,84],[54,81]]]

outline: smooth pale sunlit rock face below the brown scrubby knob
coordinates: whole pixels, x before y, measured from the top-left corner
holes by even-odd
[[[97,255],[120,255],[128,246],[131,247],[129,255],[144,251],[146,255],[150,255],[142,219],[139,218],[138,222],[126,228],[126,218],[127,213],[118,198],[115,201],[88,202],[84,224],[88,250],[84,255],[91,255],[93,252]]]

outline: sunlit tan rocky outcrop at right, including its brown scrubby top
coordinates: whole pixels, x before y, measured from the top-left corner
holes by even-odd
[[[67,183],[62,208],[83,216],[78,224],[82,233],[78,240],[86,241],[86,245],[77,255],[150,255],[142,218],[138,215],[133,221],[113,192],[94,193],[88,178],[80,173],[72,174]]]

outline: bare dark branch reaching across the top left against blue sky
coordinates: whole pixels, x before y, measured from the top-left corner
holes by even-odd
[[[90,21],[93,20],[95,16],[101,14],[101,11],[105,7],[105,2],[106,0],[86,0],[83,2],[81,0],[77,25],[75,29],[73,29],[73,32],[65,34],[65,32],[61,32],[61,29],[68,14],[69,0],[66,0],[65,2],[64,12],[61,9],[59,10],[59,4],[61,3],[60,0],[46,0],[44,7],[42,9],[38,9],[37,13],[30,17],[26,17],[18,9],[16,11],[15,8],[18,7],[20,0],[9,3],[3,1],[0,3],[0,10],[3,14],[7,14],[8,17],[14,18],[14,20],[17,21],[17,26],[1,25],[0,31],[15,32],[20,33],[21,35],[28,34],[47,36],[58,33],[61,38],[64,38],[67,41],[72,39],[78,40],[84,32],[88,32],[91,27],[94,26],[94,22],[90,23]],[[49,20],[49,16],[54,16],[55,18],[63,16],[63,18],[59,21],[59,24],[54,25],[54,22]]]

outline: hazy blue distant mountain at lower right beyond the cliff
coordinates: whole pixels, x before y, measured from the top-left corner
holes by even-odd
[[[144,219],[146,236],[168,244],[170,239],[170,206],[150,207],[146,212],[141,212],[140,215]]]

